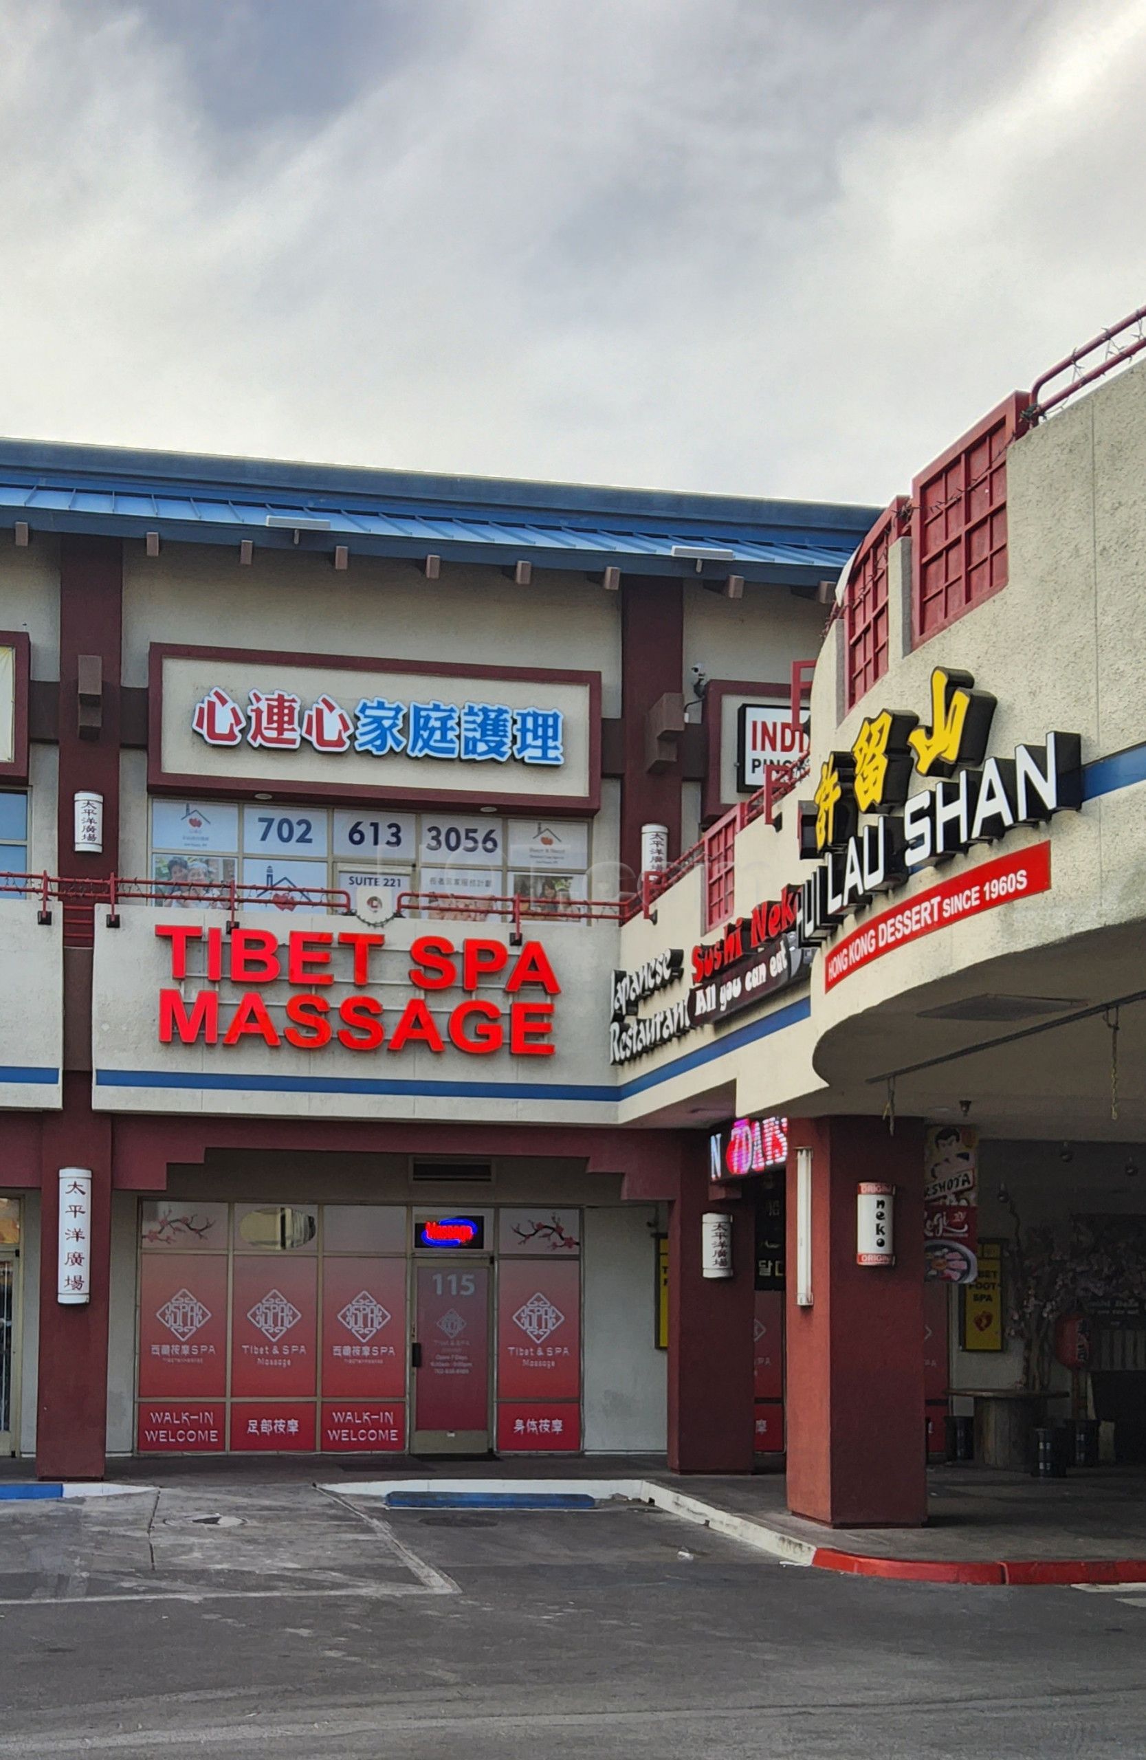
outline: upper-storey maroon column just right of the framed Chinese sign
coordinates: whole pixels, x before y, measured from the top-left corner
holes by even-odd
[[[680,764],[651,773],[644,744],[648,711],[667,692],[681,690],[685,671],[685,593],[680,581],[625,576],[621,586],[621,713],[625,776],[621,780],[621,891],[641,873],[641,825],[669,827],[669,857],[681,847]]]

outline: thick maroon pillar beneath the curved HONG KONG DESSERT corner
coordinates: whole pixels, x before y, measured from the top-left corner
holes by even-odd
[[[812,1306],[796,1302],[797,1163],[812,1151]],[[887,1267],[856,1264],[856,1186],[896,1186]],[[928,1514],[922,1375],[922,1126],[789,1119],[787,1496],[833,1528],[921,1526]]]

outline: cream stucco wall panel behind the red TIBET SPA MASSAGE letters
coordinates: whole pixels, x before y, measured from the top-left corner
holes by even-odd
[[[202,915],[202,924],[222,926],[222,920],[220,912]],[[292,931],[338,935],[364,929],[354,919],[303,912],[283,919],[278,912],[255,910],[243,912],[239,920],[245,928],[275,929],[280,945],[285,945]],[[414,989],[408,980],[408,952],[412,942],[422,935],[445,936],[456,947],[461,947],[466,933],[507,943],[509,929],[502,924],[389,922],[386,947],[373,956],[377,980],[368,986],[384,1007],[386,1044],[403,1005],[412,996],[424,996],[445,1038],[445,1049],[433,1052],[412,1042],[400,1052],[389,1052],[386,1047],[356,1052],[343,1049],[336,1038],[319,1051],[301,1051],[289,1044],[269,1047],[259,1035],[231,1047],[208,1045],[202,1040],[190,1045],[160,1044],[158,993],[171,987],[173,980],[171,943],[157,938],[155,926],[192,924],[194,917],[187,912],[125,905],[120,922],[121,928],[109,929],[97,913],[92,1044],[93,1104],[99,1109],[243,1112],[264,1118],[431,1118],[572,1125],[613,1121],[611,1095],[597,1093],[609,1082],[602,1014],[607,1012],[609,972],[614,964],[613,924],[537,924],[535,940],[544,947],[562,986],[562,993],[553,998],[553,1056],[512,1056],[509,1047],[488,1056],[472,1056],[454,1049],[445,1030],[447,1012],[463,1001],[466,993],[459,987]],[[2,929],[0,917],[0,935]],[[518,952],[511,949],[509,966],[500,973],[500,982],[484,980],[479,986],[481,996],[496,1001],[505,1017],[514,998],[505,994],[503,982],[516,957]],[[336,1008],[350,991],[349,949],[336,950],[333,970],[336,982],[327,986],[324,994]],[[195,950],[188,972],[202,972]],[[188,1003],[206,987],[206,979],[188,979],[185,982]],[[224,980],[222,1019],[229,1021],[229,1003],[236,1001],[245,987]],[[259,987],[280,1033],[287,1024],[282,1010],[290,987],[283,980]],[[521,991],[521,1000],[546,998],[540,989],[530,987]],[[169,1072],[178,1074],[185,1086],[164,1086],[153,1081],[155,1075]],[[136,1081],[139,1074],[143,1081]],[[253,1077],[252,1086],[245,1088],[241,1077]],[[301,1091],[283,1091],[283,1079],[298,1082]],[[324,1086],[338,1081],[345,1081],[350,1091],[340,1093]],[[363,1082],[378,1082],[384,1091],[363,1091]],[[572,1093],[560,1091],[565,1088]],[[537,1089],[537,1098],[532,1096],[532,1089]]]

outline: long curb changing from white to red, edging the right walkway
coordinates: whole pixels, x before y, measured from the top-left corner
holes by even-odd
[[[539,1501],[549,1500],[549,1508],[569,1507],[569,1498],[591,1498],[607,1503],[613,1498],[625,1498],[634,1503],[651,1503],[667,1515],[680,1515],[681,1521],[711,1528],[713,1533],[741,1545],[755,1547],[782,1565],[797,1565],[813,1570],[833,1570],[847,1577],[882,1577],[887,1582],[951,1582],[965,1588],[1072,1588],[1086,1582],[1146,1582],[1146,1559],[915,1559],[915,1558],[877,1558],[868,1552],[845,1552],[840,1547],[815,1545],[812,1540],[797,1540],[780,1528],[750,1515],[734,1515],[718,1510],[687,1491],[674,1485],[662,1485],[655,1478],[375,1478],[363,1484],[340,1487],[322,1485],[322,1491],[340,1489],[343,1496],[394,1498],[424,1496],[437,1492],[442,1498],[475,1500],[482,1498],[486,1508],[512,1508],[521,1498],[523,1487]],[[398,1503],[391,1508],[401,1507]],[[408,1507],[408,1503],[407,1503]],[[518,1503],[516,1507],[523,1507]]]

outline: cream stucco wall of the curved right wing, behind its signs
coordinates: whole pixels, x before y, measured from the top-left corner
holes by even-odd
[[[1141,658],[1146,653],[1146,366],[1079,400],[1019,440],[1007,458],[1009,584],[947,630],[910,651],[910,544],[893,547],[891,667],[843,718],[843,620],[820,653],[812,693],[812,778],[831,750],[847,750],[866,715],[910,709],[929,722],[929,679],[937,665],[970,671],[996,697],[989,753],[1009,757],[1019,743],[1040,744],[1051,729],[1077,732],[1083,764],[1146,741]],[[908,649],[908,651],[905,651]],[[810,797],[813,780],[797,794]],[[697,1061],[671,1082],[625,1104],[623,1118],[643,1116],[667,1098],[704,1093],[734,1077],[739,1111],[799,1105],[826,1081],[833,1104],[875,1104],[864,1093],[877,1010],[922,987],[961,984],[968,994],[984,979],[979,968],[1023,950],[1067,945],[1088,931],[1146,919],[1146,783],[1086,801],[1081,813],[1058,815],[1049,827],[1014,831],[979,845],[942,868],[919,869],[885,901],[848,919],[826,947],[870,920],[884,903],[908,903],[938,880],[973,876],[1003,852],[1049,840],[1051,891],[982,912],[956,926],[900,945],[824,987],[824,952],[812,970],[810,1030],[789,1028],[768,1049]],[[782,808],[780,829],[752,825],[736,847],[736,912],[801,884],[812,864],[797,859],[796,801]],[[681,880],[658,901],[657,926],[623,931],[623,964],[632,968],[664,947],[688,949],[699,938],[701,873]],[[650,998],[643,1012],[674,1000]],[[782,998],[771,1007],[782,1007]],[[764,1019],[757,1014],[738,1017]],[[907,1007],[915,1007],[907,1003]],[[630,1065],[625,1075],[667,1068],[681,1052],[711,1044],[713,1028]],[[720,1035],[724,1037],[724,1033]],[[803,1051],[815,1049],[815,1072]],[[850,1060],[850,1061],[848,1061]],[[854,1067],[861,1082],[843,1095]],[[878,1065],[877,1065],[878,1067]]]

